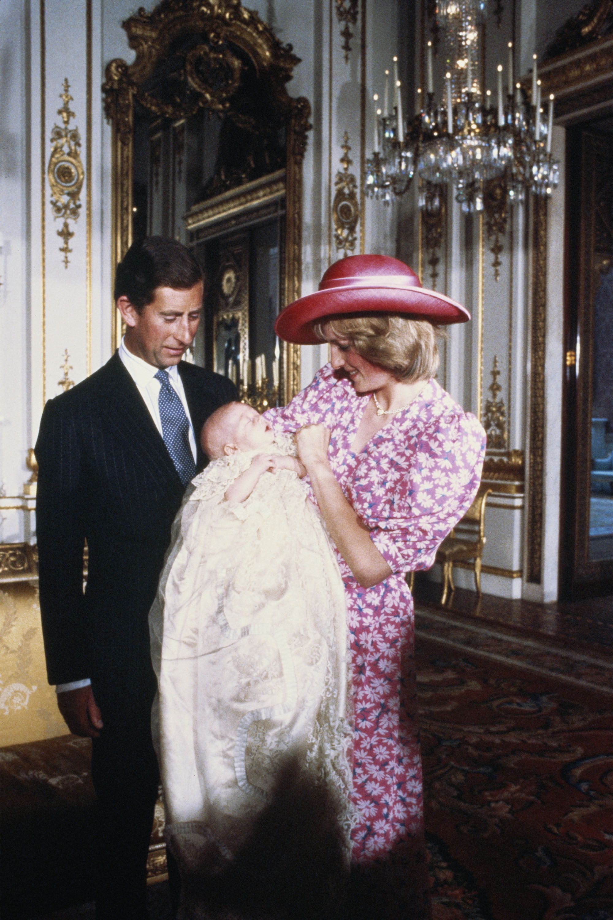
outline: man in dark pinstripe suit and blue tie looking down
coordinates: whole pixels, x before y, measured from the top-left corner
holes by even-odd
[[[202,295],[202,271],[186,247],[159,236],[135,243],[116,276],[121,347],[47,403],[36,444],[49,681],[70,730],[93,739],[98,920],[147,915],[158,787],[147,615],[185,485],[205,462],[199,431],[236,398],[225,377],[181,362]]]

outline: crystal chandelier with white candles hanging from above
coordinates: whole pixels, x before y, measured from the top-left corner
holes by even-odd
[[[375,95],[374,150],[366,162],[366,194],[389,204],[408,189],[415,171],[420,183],[419,207],[437,209],[439,187],[451,183],[456,201],[466,213],[483,209],[483,183],[501,178],[509,201],[523,201],[526,192],[551,195],[560,179],[560,166],[551,155],[553,96],[547,121],[540,106],[540,81],[533,55],[532,93],[528,100],[514,86],[513,46],[508,44],[506,91],[503,66],[497,70],[497,99],[480,84],[480,29],[485,0],[441,0],[438,24],[445,36],[445,60],[450,70],[445,92],[434,92],[432,43],[426,54],[426,94],[411,121],[403,117],[398,62],[393,59],[392,106],[389,71],[385,72],[382,108]],[[425,188],[426,186],[426,188]]]

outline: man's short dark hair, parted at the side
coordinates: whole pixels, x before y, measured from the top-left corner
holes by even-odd
[[[202,269],[193,255],[176,239],[145,236],[132,243],[115,272],[115,300],[125,296],[142,310],[153,301],[155,288],[186,291],[203,280]]]

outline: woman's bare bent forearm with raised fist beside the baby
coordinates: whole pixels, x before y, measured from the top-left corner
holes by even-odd
[[[324,425],[309,425],[296,435],[300,458],[311,478],[312,490],[328,532],[356,581],[363,588],[371,588],[389,578],[392,569],[336,481],[328,463],[329,441],[330,431]]]

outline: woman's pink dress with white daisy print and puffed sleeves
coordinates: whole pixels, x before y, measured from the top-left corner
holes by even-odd
[[[351,446],[369,398],[327,364],[288,406],[268,410],[267,418],[276,431],[310,424],[331,430],[328,459],[335,477],[392,569],[389,578],[363,588],[337,554],[346,589],[354,710],[358,817],[352,855],[358,866],[368,871],[379,865],[380,875],[388,876],[395,907],[382,909],[379,897],[378,916],[418,916],[423,914],[409,876],[419,875],[416,864],[424,857],[422,768],[413,597],[405,575],[430,568],[437,547],[470,507],[479,488],[485,433],[433,379],[354,454]],[[415,903],[414,913],[407,898]]]

